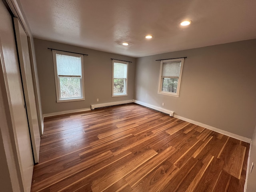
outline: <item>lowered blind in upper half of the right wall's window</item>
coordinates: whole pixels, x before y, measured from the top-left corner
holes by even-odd
[[[162,77],[179,77],[181,62],[163,63]]]

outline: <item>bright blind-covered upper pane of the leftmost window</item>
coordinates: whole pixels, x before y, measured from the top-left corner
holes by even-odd
[[[58,75],[82,74],[80,57],[56,54],[56,63]]]

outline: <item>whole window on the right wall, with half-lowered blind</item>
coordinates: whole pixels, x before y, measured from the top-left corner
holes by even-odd
[[[161,60],[158,93],[179,96],[184,58]]]

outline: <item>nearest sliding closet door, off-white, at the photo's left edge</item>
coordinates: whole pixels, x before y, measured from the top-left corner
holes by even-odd
[[[2,68],[4,71],[4,80],[8,92],[8,105],[12,116],[12,127],[14,134],[15,153],[18,157],[17,169],[20,172],[20,186],[26,192],[30,191],[33,174],[33,155],[28,129],[28,120],[26,109],[24,108],[24,94],[20,76],[18,56],[16,52],[16,43],[14,38],[14,29],[12,17],[0,1],[0,46],[2,48]]]

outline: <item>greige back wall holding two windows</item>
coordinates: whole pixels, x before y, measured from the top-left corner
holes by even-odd
[[[135,58],[34,38],[43,114],[90,108],[91,104],[134,99]],[[85,101],[56,102],[52,52],[47,48],[88,54],[84,56]],[[112,60],[132,61],[128,68],[128,96],[112,98]],[[99,102],[96,102],[96,99]]]

